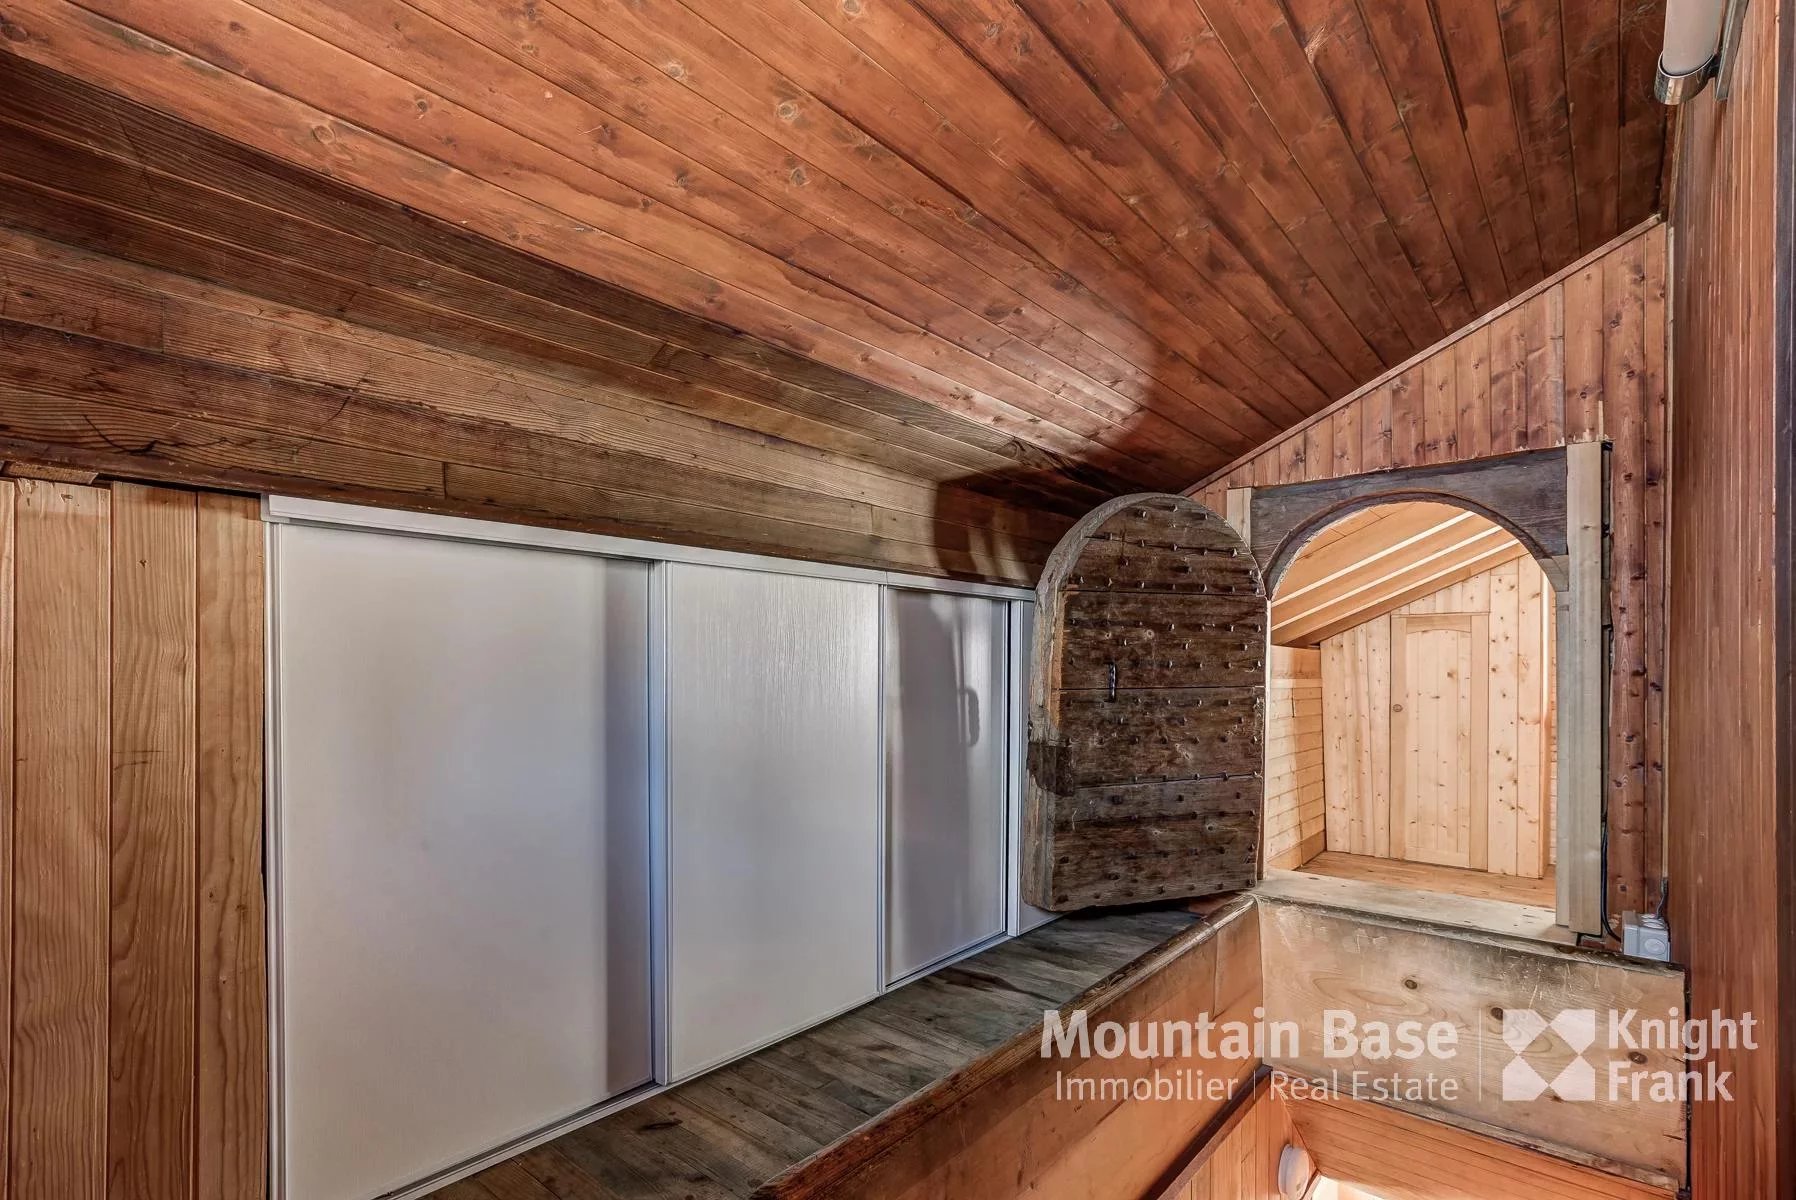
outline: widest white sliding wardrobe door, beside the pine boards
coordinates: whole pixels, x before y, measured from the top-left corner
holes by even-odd
[[[278,526],[286,1200],[652,1072],[648,568]]]

